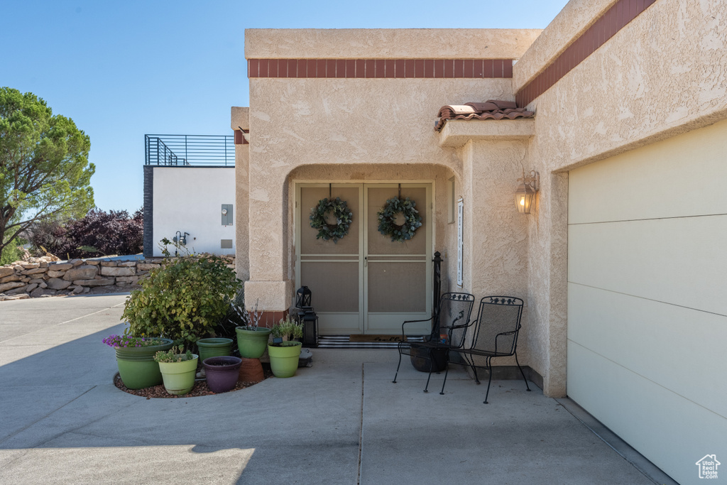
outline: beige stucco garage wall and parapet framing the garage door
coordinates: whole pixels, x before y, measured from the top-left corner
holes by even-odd
[[[569,2],[515,64],[515,84],[542,71],[611,3]],[[529,105],[537,114],[525,164],[542,178],[529,218],[527,323],[539,332],[529,364],[551,396],[567,392],[567,170],[726,117],[726,33],[721,1],[657,0]]]

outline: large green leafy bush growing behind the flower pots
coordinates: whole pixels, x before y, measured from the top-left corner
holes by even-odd
[[[122,318],[129,322],[125,333],[165,337],[188,346],[214,334],[241,281],[222,257],[186,254],[167,257],[141,286],[124,304]]]

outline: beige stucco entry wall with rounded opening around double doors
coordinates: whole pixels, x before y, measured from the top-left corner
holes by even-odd
[[[246,55],[516,58],[537,34],[456,32],[247,31]],[[251,145],[238,145],[238,152],[249,146],[249,172],[237,174],[238,186],[249,185],[248,302],[264,310],[291,304],[293,182],[326,180],[433,180],[433,250],[445,259],[442,290],[526,300],[527,219],[516,211],[513,191],[533,121],[489,121],[480,140],[469,145],[462,132],[451,130],[459,122],[448,128],[449,137],[433,130],[442,105],[514,100],[511,79],[250,79],[249,85]],[[464,197],[465,221],[471,221],[465,222],[462,287],[456,284],[457,225],[447,217],[447,181],[453,176],[455,199]],[[538,333],[523,330],[523,364],[534,341],[530,335]]]

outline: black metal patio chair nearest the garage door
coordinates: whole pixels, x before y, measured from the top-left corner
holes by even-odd
[[[489,371],[487,381],[487,392],[484,404],[488,404],[487,398],[490,393],[492,382],[492,359],[497,357],[515,356],[515,363],[525,381],[525,387],[530,390],[525,372],[518,361],[518,334],[521,329],[520,320],[523,316],[523,300],[515,297],[484,297],[480,300],[480,308],[477,312],[477,319],[474,326],[474,335],[469,345],[461,348],[450,348],[449,362],[470,366],[475,373],[475,381],[479,384],[477,368],[484,368]],[[448,369],[449,370],[449,369]],[[447,374],[444,374],[444,382],[440,394],[444,393],[444,385],[447,382]]]

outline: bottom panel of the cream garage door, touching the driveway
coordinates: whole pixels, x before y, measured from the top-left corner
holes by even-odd
[[[577,343],[568,353],[569,397],[676,481],[696,481],[696,460],[725,450],[725,418]]]

